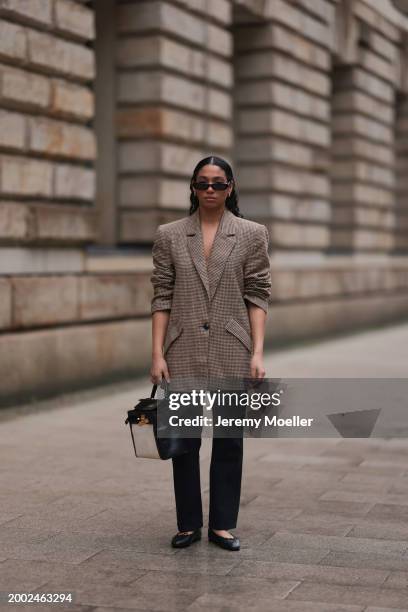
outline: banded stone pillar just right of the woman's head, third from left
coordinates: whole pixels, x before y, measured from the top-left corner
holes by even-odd
[[[269,227],[274,250],[321,252],[329,243],[334,5],[263,6],[252,19],[237,13],[234,28],[241,208]]]

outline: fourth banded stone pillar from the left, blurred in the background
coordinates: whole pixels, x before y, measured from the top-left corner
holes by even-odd
[[[387,253],[394,246],[400,33],[362,2],[351,8],[354,49],[346,35],[348,54],[339,48],[333,70],[331,250]]]

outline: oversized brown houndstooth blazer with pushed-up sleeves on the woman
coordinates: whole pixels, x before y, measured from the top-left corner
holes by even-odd
[[[151,312],[170,310],[163,354],[171,378],[250,376],[247,304],[268,312],[268,242],[264,225],[225,208],[207,264],[198,209],[158,227]]]

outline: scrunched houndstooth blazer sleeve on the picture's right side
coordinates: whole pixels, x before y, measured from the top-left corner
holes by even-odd
[[[244,267],[244,299],[268,312],[271,301],[271,264],[269,232],[264,225],[256,233]]]

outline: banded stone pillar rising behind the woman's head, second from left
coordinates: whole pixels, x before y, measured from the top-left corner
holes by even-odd
[[[229,157],[231,4],[118,0],[117,15],[118,240],[151,243],[188,214],[195,164]]]

